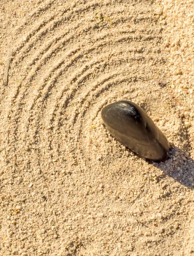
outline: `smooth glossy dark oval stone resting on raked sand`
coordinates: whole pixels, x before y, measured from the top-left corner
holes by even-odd
[[[114,102],[103,108],[101,115],[111,134],[140,157],[167,159],[168,140],[137,104],[126,100]]]

